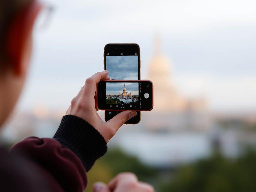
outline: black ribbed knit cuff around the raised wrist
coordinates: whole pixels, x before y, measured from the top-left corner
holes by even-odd
[[[62,118],[53,138],[74,152],[87,172],[108,150],[103,136],[87,121],[73,115]]]

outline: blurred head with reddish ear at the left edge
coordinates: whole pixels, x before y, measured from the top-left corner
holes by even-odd
[[[32,51],[32,29],[42,5],[35,0],[0,2],[0,126],[23,88]]]

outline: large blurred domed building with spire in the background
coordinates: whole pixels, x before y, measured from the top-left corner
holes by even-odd
[[[172,63],[156,40],[155,55],[150,61],[148,79],[154,83],[154,108],[143,113],[145,127],[152,131],[207,130],[209,115],[206,98],[187,99],[175,88]]]

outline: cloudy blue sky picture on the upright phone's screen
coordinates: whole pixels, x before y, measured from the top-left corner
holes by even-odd
[[[116,80],[138,80],[138,56],[106,56],[109,77]]]

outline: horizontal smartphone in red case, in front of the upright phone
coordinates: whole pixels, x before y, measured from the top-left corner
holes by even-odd
[[[109,80],[97,85],[97,108],[113,111],[151,111],[153,83],[149,80]]]

